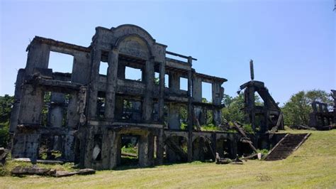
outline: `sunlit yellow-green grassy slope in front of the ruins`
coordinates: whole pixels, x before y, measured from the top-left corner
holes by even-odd
[[[336,130],[310,132],[303,146],[284,161],[194,162],[68,178],[6,176],[0,177],[0,188],[336,188]]]

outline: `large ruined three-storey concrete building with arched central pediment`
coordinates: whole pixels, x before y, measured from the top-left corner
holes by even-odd
[[[194,128],[209,111],[213,123],[221,123],[227,80],[196,72],[196,59],[166,48],[133,25],[97,27],[89,47],[36,36],[16,80],[12,157],[37,159],[47,146],[61,151],[64,161],[111,169],[123,164],[121,148],[132,138],[140,166],[204,160],[215,151],[234,158],[248,150],[240,135]],[[52,70],[50,52],[72,55],[72,72]],[[108,68],[100,74],[103,64]],[[128,68],[139,70],[140,80],[128,79]],[[210,103],[202,101],[202,82],[212,86]],[[187,112],[186,129],[181,109]]]

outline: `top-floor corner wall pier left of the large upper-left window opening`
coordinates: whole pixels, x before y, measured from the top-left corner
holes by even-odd
[[[27,75],[33,74],[34,68],[47,68],[49,63],[50,48],[46,44],[36,42],[28,46],[28,58],[26,65]]]

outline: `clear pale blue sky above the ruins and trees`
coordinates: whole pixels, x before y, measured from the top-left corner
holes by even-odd
[[[197,72],[225,77],[236,95],[250,80],[265,82],[283,104],[300,90],[336,89],[333,0],[268,1],[1,1],[0,95],[13,95],[34,36],[89,46],[96,26],[132,23],[167,50],[191,55]],[[55,60],[54,60],[55,59]],[[55,55],[59,70],[71,60]],[[60,63],[62,62],[62,63]]]

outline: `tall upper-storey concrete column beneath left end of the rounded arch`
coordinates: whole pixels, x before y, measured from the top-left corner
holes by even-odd
[[[113,49],[108,53],[108,70],[106,82],[106,104],[105,118],[114,119],[114,109],[116,107],[116,89],[118,82],[118,49]]]

